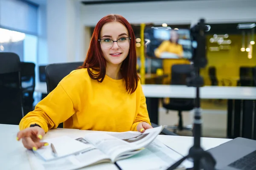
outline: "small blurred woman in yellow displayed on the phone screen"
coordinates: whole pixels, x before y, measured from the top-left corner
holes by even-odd
[[[177,30],[170,31],[170,39],[163,41],[158,48],[155,49],[154,54],[156,57],[161,58],[163,52],[168,52],[177,55],[177,57],[183,57],[183,47],[178,44],[179,35]]]

